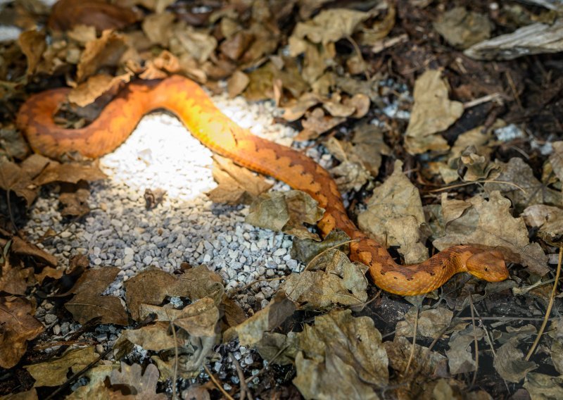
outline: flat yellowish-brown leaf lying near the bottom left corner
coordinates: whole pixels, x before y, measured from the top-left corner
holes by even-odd
[[[63,356],[37,363],[26,365],[24,368],[35,380],[35,387],[63,385],[68,379],[69,370],[77,373],[98,355],[94,351],[94,346],[87,346],[82,349],[69,349]]]

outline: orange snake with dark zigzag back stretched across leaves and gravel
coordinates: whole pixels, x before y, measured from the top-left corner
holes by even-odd
[[[286,182],[310,194],[325,209],[317,224],[323,235],[343,230],[351,239],[350,259],[369,266],[375,285],[387,292],[415,295],[431,292],[454,274],[469,272],[498,282],[508,277],[500,251],[453,246],[416,265],[399,265],[387,249],[360,232],[346,215],[339,189],[324,168],[300,152],[252,135],[213,104],[192,80],[172,76],[164,80],[131,82],[90,125],[63,129],[53,121],[69,89],[51,89],[30,96],[18,113],[18,127],[32,149],[51,158],[70,151],[99,157],[127,139],[142,116],[156,108],[175,113],[198,140],[218,154],[258,173]]]

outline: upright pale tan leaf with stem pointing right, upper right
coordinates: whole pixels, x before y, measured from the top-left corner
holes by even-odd
[[[422,74],[415,82],[413,96],[415,104],[405,132],[407,151],[421,154],[449,149],[445,139],[437,134],[460,118],[463,104],[448,99],[448,82],[442,79],[441,71],[427,70]]]

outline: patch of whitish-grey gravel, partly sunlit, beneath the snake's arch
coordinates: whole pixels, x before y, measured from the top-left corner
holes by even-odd
[[[230,118],[267,139],[291,144],[296,132],[272,124],[279,112],[270,103],[248,104],[243,99],[214,98]],[[213,204],[205,192],[216,186],[211,174],[211,151],[189,135],[167,113],[147,115],[127,141],[100,159],[108,180],[91,185],[91,213],[83,223],[61,223],[58,194],[37,200],[25,230],[32,242],[51,229],[61,232],[43,242],[61,265],[87,254],[91,265],[121,268],[108,293],[122,296],[122,282],[151,266],[171,272],[180,263],[205,263],[225,282],[227,291],[261,278],[288,275],[301,265],[291,259],[291,237],[244,223],[248,206]],[[308,150],[317,160],[317,149]],[[322,161],[327,158],[324,157]],[[146,211],[144,190],[165,189],[157,208]],[[274,189],[286,189],[278,182]],[[265,306],[279,280],[260,282],[234,299],[248,311]]]

